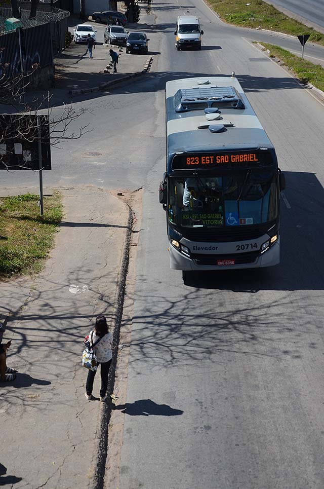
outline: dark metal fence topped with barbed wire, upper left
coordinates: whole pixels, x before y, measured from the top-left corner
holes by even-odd
[[[53,56],[64,48],[70,15],[66,11],[37,12],[36,19],[32,20],[28,18],[29,14],[30,11],[21,11],[20,41],[23,70],[26,74],[35,63],[41,68],[53,65]],[[12,16],[12,11],[0,8],[0,15],[5,19]],[[4,73],[10,78],[21,73],[18,29],[0,34],[0,77]]]

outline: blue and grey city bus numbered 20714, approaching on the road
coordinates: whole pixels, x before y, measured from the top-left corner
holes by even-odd
[[[285,176],[237,79],[167,82],[166,125],[159,201],[171,269],[277,265]]]

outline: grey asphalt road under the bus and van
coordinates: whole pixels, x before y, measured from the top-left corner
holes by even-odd
[[[251,31],[225,26],[200,0],[153,8],[157,74],[76,103],[92,110],[94,130],[54,152],[45,176],[145,189],[120,488],[322,489],[324,107],[249,42]],[[204,24],[200,52],[174,46],[176,17],[188,12]],[[286,172],[281,265],[171,271],[157,196],[165,82],[232,70]],[[2,173],[2,184],[36,179],[21,173]]]

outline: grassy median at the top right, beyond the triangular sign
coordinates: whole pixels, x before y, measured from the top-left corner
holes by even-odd
[[[208,4],[224,22],[291,35],[310,34],[309,41],[324,45],[324,34],[287,17],[262,0],[208,0]]]

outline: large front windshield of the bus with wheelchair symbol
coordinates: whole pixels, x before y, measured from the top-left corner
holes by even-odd
[[[278,212],[276,172],[170,177],[168,216],[181,227],[223,227],[272,221]]]

